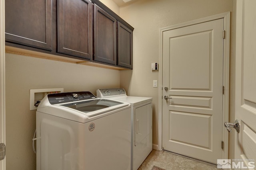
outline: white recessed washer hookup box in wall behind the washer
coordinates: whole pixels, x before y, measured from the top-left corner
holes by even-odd
[[[35,104],[50,93],[62,93],[64,88],[30,89],[30,110],[36,110]],[[39,103],[38,103],[39,104]]]

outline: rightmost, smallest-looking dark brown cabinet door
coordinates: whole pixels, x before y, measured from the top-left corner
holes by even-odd
[[[132,30],[118,22],[118,66],[132,68]]]

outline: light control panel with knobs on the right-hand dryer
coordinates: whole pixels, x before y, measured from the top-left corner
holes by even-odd
[[[105,88],[98,89],[96,92],[99,98],[126,95],[124,88]]]

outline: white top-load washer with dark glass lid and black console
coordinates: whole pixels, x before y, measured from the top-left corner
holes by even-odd
[[[36,111],[36,169],[130,170],[130,112],[90,92],[48,94]]]

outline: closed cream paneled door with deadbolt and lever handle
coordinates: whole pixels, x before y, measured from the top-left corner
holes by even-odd
[[[215,164],[222,158],[223,30],[222,18],[163,33],[162,147]]]

